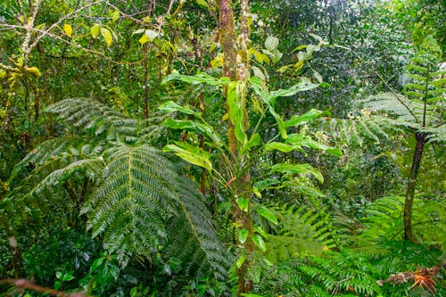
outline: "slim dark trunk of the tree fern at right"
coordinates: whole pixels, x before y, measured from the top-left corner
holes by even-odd
[[[417,243],[412,233],[412,205],[414,203],[415,186],[417,185],[418,169],[421,165],[423,148],[425,147],[425,134],[417,132],[415,134],[417,145],[415,146],[412,168],[410,169],[408,190],[404,202],[404,238]]]

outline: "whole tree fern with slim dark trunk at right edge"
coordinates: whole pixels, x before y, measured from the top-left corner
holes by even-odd
[[[444,87],[445,71],[439,70],[442,51],[433,37],[426,37],[408,66],[409,82],[403,95],[395,92],[365,100],[364,108],[389,115],[384,122],[406,129],[417,140],[408,177],[404,207],[404,237],[416,241],[412,232],[412,205],[425,144],[442,145],[446,140]],[[393,117],[393,118],[392,118]]]

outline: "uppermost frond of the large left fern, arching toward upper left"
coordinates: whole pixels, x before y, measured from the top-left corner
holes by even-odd
[[[58,114],[62,120],[90,131],[95,136],[106,136],[109,140],[122,138],[127,142],[136,141],[137,120],[93,99],[65,99],[49,106],[47,111]]]

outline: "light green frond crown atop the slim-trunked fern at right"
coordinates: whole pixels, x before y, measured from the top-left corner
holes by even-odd
[[[444,142],[446,71],[438,70],[439,50],[434,38],[426,37],[417,56],[409,62],[409,83],[402,95],[392,91],[359,103],[368,111],[392,119],[392,125],[404,123],[412,132],[426,133],[429,142]]]

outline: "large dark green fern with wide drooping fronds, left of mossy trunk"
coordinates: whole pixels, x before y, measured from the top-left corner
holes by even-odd
[[[87,128],[87,135],[54,138],[29,153],[12,175],[21,180],[10,195],[13,203],[61,197],[67,182],[88,179],[92,191],[81,210],[87,228],[121,260],[162,252],[182,260],[189,277],[226,277],[226,252],[201,194],[160,151],[141,140],[136,144],[143,131],[137,120],[87,99],[56,103],[49,111]],[[19,173],[27,166],[31,170],[23,177]]]

